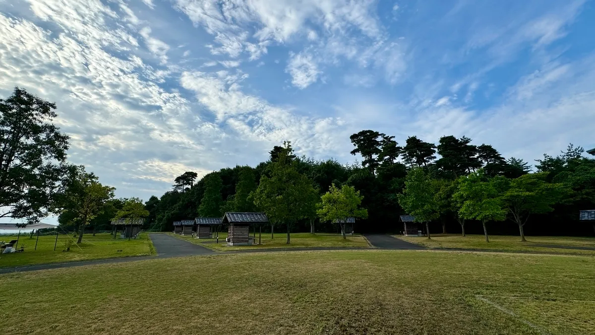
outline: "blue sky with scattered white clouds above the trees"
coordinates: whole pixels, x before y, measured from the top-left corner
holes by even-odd
[[[0,97],[49,101],[68,160],[148,200],[284,140],[463,135],[531,164],[595,147],[594,1],[0,0]]]

